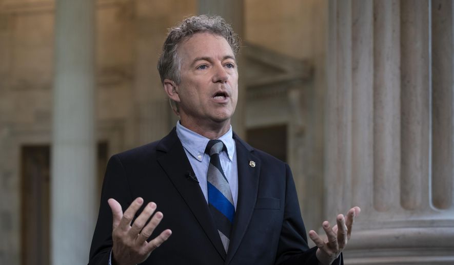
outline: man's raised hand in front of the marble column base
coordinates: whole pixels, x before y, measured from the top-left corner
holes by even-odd
[[[321,264],[329,265],[341,255],[350,239],[354,217],[358,216],[360,212],[360,207],[355,206],[348,211],[346,217],[342,214],[338,215],[337,224],[332,228],[328,221],[324,221],[322,227],[325,230],[327,241],[320,238],[315,231],[309,231],[310,239],[319,248],[317,250],[317,259]]]

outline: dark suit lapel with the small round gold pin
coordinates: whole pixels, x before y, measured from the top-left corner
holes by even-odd
[[[236,160],[238,163],[238,205],[230,236],[229,250],[225,264],[230,263],[240,246],[254,211],[259,190],[261,161],[252,154],[253,148],[243,142],[236,134]],[[253,161],[255,164],[252,164]]]

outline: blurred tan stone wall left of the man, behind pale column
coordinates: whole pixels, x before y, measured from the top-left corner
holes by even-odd
[[[156,62],[167,29],[195,13],[195,2],[98,0],[95,8],[96,139],[113,154],[173,126]],[[49,0],[0,1],[2,264],[21,262],[21,146],[51,143],[54,12]]]

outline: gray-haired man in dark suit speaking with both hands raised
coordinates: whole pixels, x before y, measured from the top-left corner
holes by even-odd
[[[221,17],[170,30],[158,69],[180,120],[109,160],[89,264],[342,263],[360,209],[325,221],[326,242],[310,231],[309,249],[290,168],[232,132],[238,50]]]

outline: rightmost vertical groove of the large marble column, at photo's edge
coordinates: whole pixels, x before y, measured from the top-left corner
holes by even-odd
[[[432,1],[432,204],[454,207],[454,5]]]

